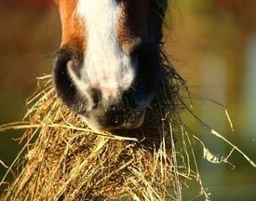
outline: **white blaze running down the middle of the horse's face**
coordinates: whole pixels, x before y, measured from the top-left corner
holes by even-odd
[[[82,91],[96,87],[108,98],[128,89],[134,79],[135,64],[118,44],[120,10],[116,0],[78,0],[77,15],[86,24],[87,46],[81,80],[74,82]]]

